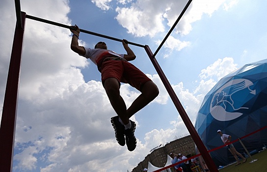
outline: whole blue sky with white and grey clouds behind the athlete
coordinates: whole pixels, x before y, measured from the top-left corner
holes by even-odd
[[[152,52],[184,8],[185,0],[21,0],[22,11],[81,29],[148,45]],[[156,56],[192,123],[205,94],[220,78],[267,55],[267,0],[193,0]],[[16,23],[14,1],[0,5],[0,103]],[[137,148],[115,140],[116,115],[97,67],[70,50],[68,29],[26,19],[13,172],[126,172],[150,150],[188,134],[143,48],[130,45],[132,61],[159,87],[159,96],[132,117]],[[121,42],[85,33],[124,53]],[[121,85],[126,105],[139,95]],[[2,108],[1,108],[2,110]],[[1,111],[0,111],[1,115]],[[219,141],[218,141],[219,142]],[[121,165],[118,165],[121,162]],[[103,163],[105,163],[103,165]]]

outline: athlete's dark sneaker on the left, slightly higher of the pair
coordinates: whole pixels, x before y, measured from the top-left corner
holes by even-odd
[[[112,117],[111,123],[112,123],[114,130],[115,130],[115,137],[116,137],[117,142],[121,146],[124,146],[125,145],[125,138],[124,138],[125,127],[119,121],[119,116]]]

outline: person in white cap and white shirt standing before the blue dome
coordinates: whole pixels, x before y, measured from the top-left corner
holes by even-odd
[[[231,142],[232,137],[230,135],[222,134],[222,132],[220,130],[218,130],[217,133],[220,135],[220,139],[224,144]],[[227,148],[232,153],[232,155],[235,157],[235,159],[237,161],[236,166],[241,164],[237,156],[240,156],[243,159],[243,163],[246,162],[246,158],[243,157],[243,155],[236,150],[236,148],[234,147],[234,145],[232,143],[228,144]]]

